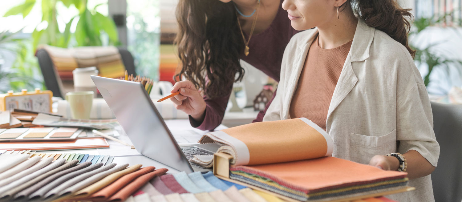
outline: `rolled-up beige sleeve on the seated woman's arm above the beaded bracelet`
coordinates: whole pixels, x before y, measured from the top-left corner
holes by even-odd
[[[423,84],[416,83],[396,107],[398,152],[419,152],[433,166],[438,165],[439,144],[433,131],[432,107]]]

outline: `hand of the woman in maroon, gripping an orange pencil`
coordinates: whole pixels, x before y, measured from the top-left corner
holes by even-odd
[[[175,93],[179,92],[176,95]],[[205,116],[206,103],[201,93],[196,89],[191,81],[179,81],[170,90],[173,93],[170,100],[177,110],[182,110],[194,118],[196,122],[202,122]],[[166,98],[167,99],[167,98]]]

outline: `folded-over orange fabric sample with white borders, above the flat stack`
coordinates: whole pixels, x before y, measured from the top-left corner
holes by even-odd
[[[332,155],[334,148],[328,133],[307,118],[254,122],[207,133],[199,142],[224,145],[217,152],[229,153],[232,165],[315,159]],[[210,156],[199,155],[190,161],[212,166]]]

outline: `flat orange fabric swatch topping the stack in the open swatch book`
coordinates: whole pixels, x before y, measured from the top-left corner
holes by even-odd
[[[231,171],[251,171],[262,177],[271,177],[276,183],[305,193],[334,189],[365,182],[403,178],[406,172],[384,171],[371,165],[335,157],[300,160],[285,163],[231,166]]]

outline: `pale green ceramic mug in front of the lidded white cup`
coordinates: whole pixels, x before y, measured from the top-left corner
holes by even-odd
[[[71,107],[71,116],[74,119],[90,119],[91,105],[93,103],[92,91],[75,91],[66,93],[66,100]]]

